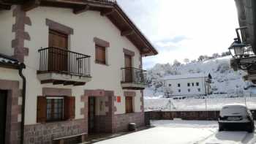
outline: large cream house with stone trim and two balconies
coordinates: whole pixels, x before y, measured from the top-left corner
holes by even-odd
[[[11,121],[1,140],[79,143],[87,134],[144,125],[142,57],[157,50],[116,1],[0,6],[0,53],[26,66],[0,61],[0,94],[7,97],[0,106],[12,112],[2,118]]]

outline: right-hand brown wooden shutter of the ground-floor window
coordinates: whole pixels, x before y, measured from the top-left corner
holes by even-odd
[[[75,118],[75,96],[66,96],[64,99],[64,118]]]

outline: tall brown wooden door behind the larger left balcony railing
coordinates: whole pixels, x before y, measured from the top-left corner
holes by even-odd
[[[67,72],[67,34],[49,30],[49,48],[48,69]]]

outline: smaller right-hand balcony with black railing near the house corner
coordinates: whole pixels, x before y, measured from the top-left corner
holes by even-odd
[[[123,89],[143,90],[146,88],[146,70],[134,67],[121,68]]]

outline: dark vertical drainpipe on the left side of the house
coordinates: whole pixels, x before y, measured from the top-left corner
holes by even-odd
[[[22,109],[21,109],[21,129],[20,129],[20,144],[24,143],[24,127],[25,127],[25,101],[26,101],[26,77],[22,70],[26,68],[25,64],[20,64],[19,75],[22,79]]]

